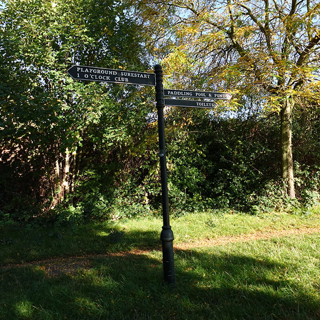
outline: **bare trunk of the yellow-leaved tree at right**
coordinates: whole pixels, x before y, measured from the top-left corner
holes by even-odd
[[[295,198],[291,144],[292,108],[293,100],[290,97],[285,97],[280,113],[282,177],[284,180],[285,194],[290,198]]]

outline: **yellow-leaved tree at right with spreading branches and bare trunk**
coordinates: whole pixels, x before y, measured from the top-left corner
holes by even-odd
[[[279,114],[282,177],[291,198],[294,108],[302,100],[314,105],[315,97],[320,105],[319,14],[317,0],[160,0],[139,7],[168,85],[238,97],[255,91],[266,112]]]

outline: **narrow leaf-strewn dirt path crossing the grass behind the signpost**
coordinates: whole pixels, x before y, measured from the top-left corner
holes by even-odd
[[[219,246],[228,243],[245,242],[252,240],[268,240],[276,237],[286,237],[289,235],[308,235],[320,233],[320,228],[308,228],[301,227],[296,229],[284,229],[284,230],[267,230],[257,231],[255,233],[242,234],[239,236],[222,236],[216,238],[206,238],[194,242],[180,242],[174,243],[175,250],[188,250],[197,247],[212,247]],[[159,249],[161,250],[161,249]],[[60,276],[63,274],[73,275],[83,270],[89,270],[92,267],[92,259],[99,257],[128,257],[130,255],[146,255],[150,252],[150,249],[134,249],[127,252],[108,253],[100,255],[89,256],[70,256],[70,257],[54,257],[50,259],[44,259],[40,261],[32,261],[21,264],[7,264],[3,266],[2,270],[9,270],[12,268],[23,268],[32,266],[37,270],[41,270],[46,273],[48,277]]]

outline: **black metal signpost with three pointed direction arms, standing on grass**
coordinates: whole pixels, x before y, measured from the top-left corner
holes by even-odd
[[[160,174],[161,174],[161,193],[162,193],[162,218],[163,226],[160,235],[162,241],[163,277],[164,281],[170,285],[175,285],[175,263],[173,240],[174,234],[169,222],[169,200],[167,182],[167,164],[164,140],[164,118],[163,108],[167,106],[193,107],[193,108],[215,108],[217,104],[212,101],[203,100],[182,100],[164,99],[163,96],[176,96],[185,98],[204,98],[229,100],[231,95],[224,92],[206,92],[192,90],[173,90],[163,89],[162,68],[160,64],[155,65],[154,73],[144,73],[138,71],[126,71],[116,69],[106,69],[83,65],[73,65],[67,73],[75,80],[113,82],[124,84],[138,84],[155,86],[156,106],[158,111],[158,130],[159,130],[159,155],[160,155]]]

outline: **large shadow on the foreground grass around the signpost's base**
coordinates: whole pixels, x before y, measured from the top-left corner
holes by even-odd
[[[179,250],[170,289],[162,283],[160,252],[116,247],[123,241],[144,248],[153,236],[126,232],[106,242],[113,254],[92,257],[89,270],[72,276],[48,277],[34,265],[2,269],[0,318],[319,319],[319,300],[286,277],[288,266],[249,256]]]

